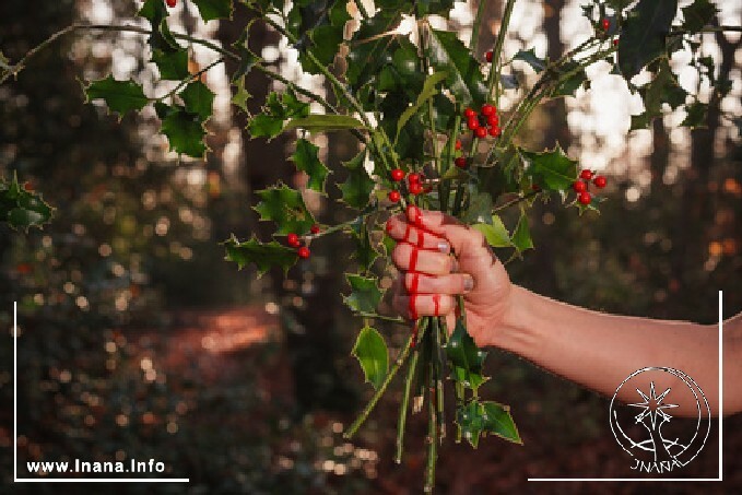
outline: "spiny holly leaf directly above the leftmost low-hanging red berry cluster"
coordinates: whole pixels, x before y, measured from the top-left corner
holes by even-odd
[[[269,187],[257,192],[260,202],[254,207],[261,221],[275,222],[278,235],[304,234],[316,223],[302,193],[285,184]]]

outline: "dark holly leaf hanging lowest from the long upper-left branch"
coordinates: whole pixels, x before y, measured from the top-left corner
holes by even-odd
[[[162,119],[161,131],[167,137],[170,150],[195,158],[203,158],[207,145],[203,137],[203,121],[198,114],[186,110],[180,105],[157,105],[158,115]]]

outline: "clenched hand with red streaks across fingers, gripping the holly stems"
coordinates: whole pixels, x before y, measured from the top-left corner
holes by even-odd
[[[469,334],[479,346],[494,345],[513,286],[482,233],[452,216],[414,205],[407,216],[389,219],[387,233],[398,241],[391,255],[400,270],[392,302],[396,310],[410,319],[444,316],[452,331],[456,295],[463,294]]]

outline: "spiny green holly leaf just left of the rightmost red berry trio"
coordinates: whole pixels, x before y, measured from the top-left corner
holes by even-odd
[[[526,163],[525,175],[543,190],[564,191],[577,180],[577,161],[569,160],[558,144],[541,153],[518,149],[518,154]]]

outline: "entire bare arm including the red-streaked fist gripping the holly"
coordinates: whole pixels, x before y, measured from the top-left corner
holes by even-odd
[[[680,369],[719,415],[718,325],[608,315],[534,294],[510,282],[480,232],[440,212],[411,207],[389,220],[387,232],[398,241],[393,306],[401,315],[441,316],[452,329],[456,295],[462,294],[467,328],[479,346],[513,352],[609,397],[637,369]],[[728,415],[742,411],[742,314],[725,321],[722,339],[722,414]],[[639,377],[641,389],[653,381],[658,393],[683,386],[660,372]],[[626,402],[637,397],[626,387],[619,394]],[[697,414],[695,401],[678,405],[672,415]]]

